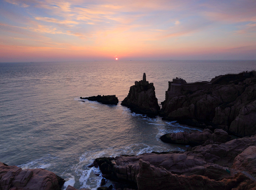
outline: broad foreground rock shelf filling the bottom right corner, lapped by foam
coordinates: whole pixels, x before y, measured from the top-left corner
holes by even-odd
[[[97,158],[94,167],[100,168],[104,178],[138,190],[242,190],[256,189],[255,159],[256,135],[186,152]]]

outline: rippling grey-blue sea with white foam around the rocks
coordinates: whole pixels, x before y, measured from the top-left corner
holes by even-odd
[[[143,72],[160,103],[172,78],[209,81],[255,69],[255,61],[241,60],[0,63],[0,162],[44,168],[68,180],[65,186],[97,189],[100,171],[87,167],[95,158],[186,150],[159,137],[196,130],[120,105]],[[115,106],[79,99],[114,94]]]

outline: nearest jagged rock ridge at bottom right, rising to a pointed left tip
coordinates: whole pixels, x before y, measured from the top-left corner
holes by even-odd
[[[201,175],[178,176],[163,167],[155,167],[140,159],[140,172],[137,175],[138,190],[216,190],[256,189],[256,182],[243,175],[215,181]]]

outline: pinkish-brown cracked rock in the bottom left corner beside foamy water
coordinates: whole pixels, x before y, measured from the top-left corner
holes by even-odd
[[[65,180],[44,169],[25,169],[0,163],[1,190],[60,190]]]

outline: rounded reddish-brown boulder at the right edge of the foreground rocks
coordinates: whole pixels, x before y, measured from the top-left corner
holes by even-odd
[[[256,174],[256,146],[250,146],[236,156],[232,168]]]

